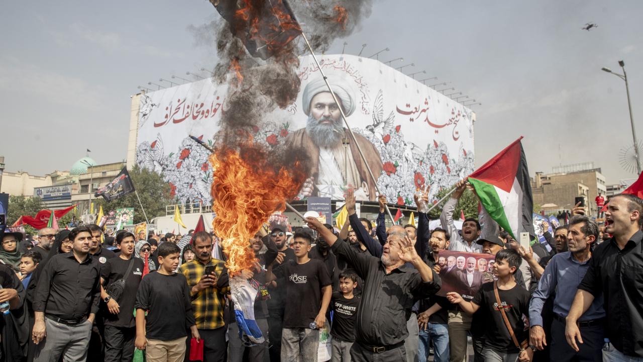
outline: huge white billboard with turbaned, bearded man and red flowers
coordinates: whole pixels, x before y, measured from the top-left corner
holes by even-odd
[[[469,108],[374,59],[324,55],[320,61],[389,202],[412,205],[413,193],[424,184],[432,186],[435,200],[440,188],[473,171],[475,113]],[[311,178],[299,198],[342,199],[350,184],[357,187],[358,200],[377,200],[376,186],[332,110],[312,57],[302,57],[299,75],[298,99],[266,115],[252,130],[255,142],[300,146],[309,153]],[[204,79],[141,95],[136,163],[163,173],[180,202],[210,203],[208,151],[188,136],[212,144],[226,91],[225,84]],[[340,131],[329,131],[331,125]]]

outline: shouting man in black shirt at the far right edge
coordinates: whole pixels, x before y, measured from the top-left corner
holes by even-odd
[[[643,361],[643,200],[612,196],[605,213],[605,231],[612,238],[593,252],[566,318],[565,337],[574,350],[583,343],[577,325],[595,297],[604,297],[609,323],[603,361]]]

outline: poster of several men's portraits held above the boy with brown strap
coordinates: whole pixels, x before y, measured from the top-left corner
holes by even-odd
[[[437,295],[457,292],[465,300],[472,300],[483,283],[494,280],[494,259],[490,254],[441,250],[437,263],[442,288]]]

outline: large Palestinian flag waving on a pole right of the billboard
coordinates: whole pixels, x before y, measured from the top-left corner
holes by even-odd
[[[514,141],[469,175],[487,213],[515,240],[520,233],[534,238],[533,199],[527,159],[520,140]]]

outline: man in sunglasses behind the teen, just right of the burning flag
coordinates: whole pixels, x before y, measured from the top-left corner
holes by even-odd
[[[284,254],[284,262],[296,260],[294,250],[288,247],[285,234],[285,227],[276,225],[270,232],[270,239],[275,243],[279,254]],[[276,267],[276,265],[275,265]],[[282,329],[284,329],[284,305],[285,305],[285,279],[277,280],[267,285],[270,299],[266,301],[268,306],[268,335],[270,336],[271,347],[269,350],[270,361],[280,361]]]

